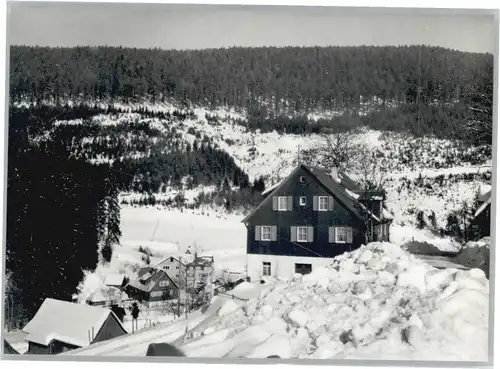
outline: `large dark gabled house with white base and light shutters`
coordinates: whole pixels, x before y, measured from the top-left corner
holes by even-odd
[[[300,164],[244,219],[247,274],[290,278],[372,241],[389,241],[392,218],[380,192],[345,173]]]

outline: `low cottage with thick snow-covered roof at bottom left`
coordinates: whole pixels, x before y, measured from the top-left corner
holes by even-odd
[[[34,355],[57,355],[127,334],[109,309],[51,298],[45,299],[23,332],[27,354]]]

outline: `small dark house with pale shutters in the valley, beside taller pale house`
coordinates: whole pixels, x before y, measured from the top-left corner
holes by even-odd
[[[178,299],[179,287],[162,269],[142,268],[136,279],[125,286],[127,295],[148,307],[161,306],[164,301]]]

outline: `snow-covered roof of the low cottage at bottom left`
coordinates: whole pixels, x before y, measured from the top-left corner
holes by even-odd
[[[28,334],[26,341],[44,346],[48,346],[52,340],[58,340],[86,347],[91,344],[92,329],[95,337],[110,315],[126,332],[109,309],[47,298],[23,332]]]

